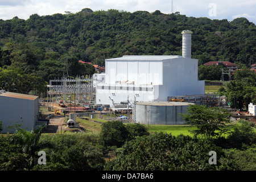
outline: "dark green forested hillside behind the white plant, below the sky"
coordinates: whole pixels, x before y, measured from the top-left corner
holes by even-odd
[[[63,75],[92,75],[92,65],[122,55],[181,55],[181,31],[191,30],[192,58],[199,65],[230,61],[250,67],[256,60],[256,26],[246,18],[210,20],[147,11],[82,9],[79,13],[0,20],[0,67],[12,65],[45,81]]]

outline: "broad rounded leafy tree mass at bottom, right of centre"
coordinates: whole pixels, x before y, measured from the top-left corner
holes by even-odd
[[[209,152],[217,152],[217,158],[224,155],[220,147],[207,140],[163,133],[137,137],[126,142],[122,148],[121,154],[106,164],[107,170],[216,170],[221,163],[210,165]]]

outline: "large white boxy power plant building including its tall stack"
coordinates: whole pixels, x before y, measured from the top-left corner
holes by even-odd
[[[96,85],[96,104],[167,101],[169,96],[204,94],[198,60],[191,59],[191,31],[183,31],[182,56],[123,56],[105,60]]]

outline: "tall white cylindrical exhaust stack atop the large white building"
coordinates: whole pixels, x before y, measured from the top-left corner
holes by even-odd
[[[182,34],[182,57],[191,58],[191,35],[190,30],[183,30]]]

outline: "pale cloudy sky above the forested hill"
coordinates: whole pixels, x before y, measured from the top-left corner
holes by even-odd
[[[77,13],[84,8],[93,11],[109,9],[175,13],[186,16],[207,17],[210,19],[227,19],[245,17],[256,24],[255,0],[0,0],[0,19],[7,20],[18,16],[28,19],[32,14],[53,15],[65,14],[65,11]]]

